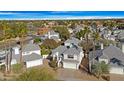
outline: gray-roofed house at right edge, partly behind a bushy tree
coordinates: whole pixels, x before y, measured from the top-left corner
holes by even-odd
[[[110,73],[114,74],[124,74],[124,53],[121,49],[110,45],[103,50],[97,50],[94,54],[90,53],[90,62],[93,62],[95,59],[96,62],[104,61],[106,64],[109,64]]]

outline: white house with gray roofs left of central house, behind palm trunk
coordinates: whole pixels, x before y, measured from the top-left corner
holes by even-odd
[[[40,48],[35,44],[26,44],[22,52],[22,60],[26,68],[34,67],[43,64],[43,58],[40,55]],[[16,64],[20,61],[20,47],[13,48],[12,64]]]

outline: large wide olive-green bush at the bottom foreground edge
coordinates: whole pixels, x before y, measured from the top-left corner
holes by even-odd
[[[48,68],[31,68],[22,73],[16,80],[19,81],[50,81],[55,80],[54,72]]]

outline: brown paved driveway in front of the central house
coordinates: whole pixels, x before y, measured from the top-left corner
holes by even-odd
[[[58,69],[57,70],[58,80],[64,81],[98,81],[98,79],[92,75],[87,74],[84,71],[74,69]],[[99,79],[102,80],[102,79]]]

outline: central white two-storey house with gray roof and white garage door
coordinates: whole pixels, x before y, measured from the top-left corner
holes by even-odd
[[[78,46],[79,40],[68,39],[64,42],[64,45],[52,50],[51,56],[56,58],[58,65],[62,65],[63,68],[78,69],[81,60],[84,56],[82,47]]]

